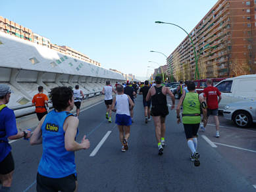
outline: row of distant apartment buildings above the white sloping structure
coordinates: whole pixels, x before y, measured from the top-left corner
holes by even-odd
[[[18,38],[37,43],[38,45],[49,47],[49,49],[55,49],[55,51],[84,60],[91,64],[101,66],[100,62],[90,59],[87,55],[84,55],[83,53],[80,53],[79,51],[65,45],[59,46],[57,44],[52,44],[50,39],[40,36],[39,34],[35,34],[32,32],[32,30],[25,28],[16,22],[10,21],[7,18],[3,18],[3,16],[0,16],[0,32],[5,32],[11,36],[16,36]]]

